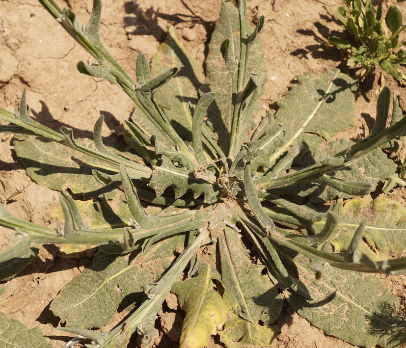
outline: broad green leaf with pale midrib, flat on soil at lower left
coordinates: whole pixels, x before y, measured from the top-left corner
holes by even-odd
[[[66,326],[102,327],[116,312],[123,299],[130,303],[144,296],[142,286],[153,281],[174,259],[173,250],[184,236],[158,242],[147,253],[124,256],[98,252],[91,268],[86,268],[69,282],[52,301],[50,309]],[[159,258],[153,268],[143,268]],[[131,297],[131,299],[129,298]],[[134,303],[133,303],[134,305]],[[83,315],[86,313],[86,315]]]

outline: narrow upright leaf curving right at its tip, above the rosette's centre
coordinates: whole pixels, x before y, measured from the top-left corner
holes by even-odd
[[[202,95],[193,112],[192,139],[194,154],[200,164],[206,164],[206,158],[202,149],[203,118],[207,108],[212,104],[216,94],[208,92]]]

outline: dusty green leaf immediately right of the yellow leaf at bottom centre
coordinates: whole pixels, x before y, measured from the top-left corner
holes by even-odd
[[[256,323],[271,324],[282,308],[276,286],[261,274],[264,266],[253,264],[243,248],[240,235],[225,228],[218,243],[221,258],[221,281],[238,302],[236,314]]]

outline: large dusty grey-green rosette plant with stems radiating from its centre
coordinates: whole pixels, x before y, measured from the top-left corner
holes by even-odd
[[[387,322],[379,314],[380,304],[398,310],[399,298],[368,273],[406,270],[405,257],[392,258],[406,251],[406,209],[357,198],[396,171],[380,149],[406,133],[396,94],[383,89],[365,139],[327,142],[355,124],[357,81],[335,69],[306,74],[275,115],[256,122],[266,79],[257,37],[264,17],[251,28],[244,0],[222,3],[206,77],[170,28],[151,70],[138,55],[136,82],[100,41],[100,0],[85,26],[72,10],[40,2],[95,58],[78,70],[121,88],[135,110],[124,124],[128,147],[120,149],[102,141],[103,117],[91,142],[31,119],[26,92],[14,114],[0,108],[0,119],[12,124],[0,130],[18,136],[15,150],[32,179],[84,197],[75,202],[60,192],[65,222],[56,229],[0,206],[0,225],[14,229],[17,241],[0,254],[2,280],[35,257],[35,245],[97,245],[92,267],[50,305],[66,325],[61,330],[92,341],[86,347],[126,347],[135,332],[148,344],[169,292],[186,311],[181,347],[206,347],[216,334],[230,348],[269,347],[285,289],[290,305],[327,334],[366,347],[400,344],[391,341],[399,327],[382,332]],[[313,206],[331,200],[328,210]],[[148,203],[162,209],[146,210]],[[92,330],[119,306],[131,314],[110,331]],[[1,340],[51,346],[38,330],[0,319],[8,328]]]

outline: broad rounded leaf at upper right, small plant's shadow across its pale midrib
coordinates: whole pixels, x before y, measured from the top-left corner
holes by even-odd
[[[328,94],[325,93],[329,90]],[[356,80],[331,69],[321,75],[306,73],[298,76],[298,84],[278,101],[275,121],[282,123],[289,140],[302,126],[325,96],[324,102],[296,141],[304,150],[311,150],[330,135],[355,124],[354,93]]]

